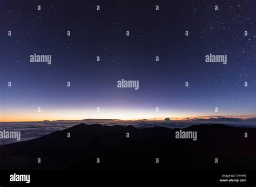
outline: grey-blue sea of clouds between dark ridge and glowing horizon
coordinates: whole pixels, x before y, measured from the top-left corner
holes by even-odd
[[[58,121],[34,121],[34,122],[8,122],[0,123],[0,131],[20,131],[21,140],[31,140],[56,131],[62,131],[78,124],[102,124],[102,125],[132,125],[136,128],[167,127],[185,128],[199,124],[224,124],[237,127],[256,127],[256,118],[186,118],[185,120],[112,120],[112,119],[85,119],[85,120],[58,120]],[[0,139],[0,145],[17,142],[16,139]]]

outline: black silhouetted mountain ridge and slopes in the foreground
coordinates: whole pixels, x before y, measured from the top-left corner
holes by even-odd
[[[179,129],[138,130],[133,126],[79,124],[41,138],[0,146],[0,168],[83,171],[256,169],[256,128],[193,125],[183,129],[197,131],[197,141],[176,139],[176,131]],[[127,132],[130,138],[126,138]],[[245,132],[248,138],[245,138]],[[41,163],[37,163],[38,158]],[[218,163],[214,163],[215,158]]]

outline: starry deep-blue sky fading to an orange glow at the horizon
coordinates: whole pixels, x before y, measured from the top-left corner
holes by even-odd
[[[1,1],[0,121],[255,116],[255,7],[252,0]],[[31,63],[35,53],[52,63]],[[227,64],[206,63],[210,53],[227,55]],[[139,90],[117,88],[122,78],[138,80]]]

